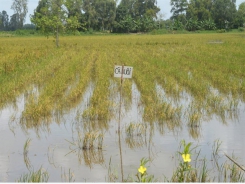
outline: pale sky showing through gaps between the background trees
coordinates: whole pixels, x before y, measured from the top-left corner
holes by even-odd
[[[242,2],[245,2],[245,0],[237,0],[236,5],[237,7]],[[13,0],[0,0],[0,11],[7,11],[8,15],[11,16],[14,12],[11,9],[11,5],[13,3]],[[28,0],[28,13],[26,16],[26,24],[30,23],[30,14],[33,14],[34,9],[38,5],[38,0]],[[160,7],[161,13],[164,15],[163,19],[168,19],[171,16],[170,10],[170,0],[158,0],[157,6]]]

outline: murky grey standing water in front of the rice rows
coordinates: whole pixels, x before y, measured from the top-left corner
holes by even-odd
[[[203,120],[200,127],[190,129],[183,126],[169,130],[157,127],[151,131],[147,127],[143,136],[127,137],[125,130],[130,122],[142,123],[143,107],[140,105],[140,93],[136,85],[132,86],[131,108],[122,112],[122,133],[120,158],[117,118],[109,123],[109,130],[104,131],[103,149],[92,151],[79,148],[79,133],[82,121],[78,114],[86,108],[93,85],[89,86],[83,102],[76,109],[65,114],[57,123],[38,130],[25,130],[19,124],[21,112],[24,110],[24,95],[17,99],[16,106],[7,106],[0,113],[0,181],[14,182],[23,174],[43,168],[49,173],[49,182],[106,182],[108,170],[121,179],[120,159],[122,158],[124,178],[134,176],[143,157],[151,158],[148,173],[163,181],[164,176],[170,178],[177,165],[177,154],[180,141],[193,142],[199,145],[201,157],[211,160],[214,141],[222,141],[220,150],[228,155],[234,154],[241,165],[245,165],[245,105],[239,103],[236,119],[227,119],[224,124],[218,118]],[[163,92],[162,92],[163,93]],[[190,100],[182,101],[186,106]],[[181,103],[181,102],[180,102]],[[27,159],[24,159],[24,144],[30,138]],[[222,153],[221,153],[222,155]],[[210,166],[212,167],[212,166]],[[70,174],[69,174],[70,173]]]

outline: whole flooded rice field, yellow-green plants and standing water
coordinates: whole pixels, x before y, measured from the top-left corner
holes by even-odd
[[[1,39],[0,182],[245,181],[242,33]]]

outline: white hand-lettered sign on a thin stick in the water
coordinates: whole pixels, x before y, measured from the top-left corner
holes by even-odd
[[[123,182],[123,163],[122,163],[122,146],[121,146],[121,132],[120,132],[120,122],[121,122],[121,105],[122,105],[122,84],[123,78],[132,78],[133,67],[131,66],[114,66],[114,77],[121,78],[120,85],[120,106],[119,106],[119,120],[118,120],[118,139],[119,139],[119,151],[120,151],[120,159],[121,159],[121,174],[122,174],[122,182]]]

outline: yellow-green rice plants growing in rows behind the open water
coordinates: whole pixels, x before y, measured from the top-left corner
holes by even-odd
[[[65,37],[57,49],[52,39],[1,38],[0,107],[24,94],[20,122],[34,128],[78,107],[92,85],[80,117],[95,129],[108,129],[119,104],[120,79],[113,69],[124,64],[134,67],[133,78],[123,83],[124,107],[130,109],[136,85],[144,121],[170,129],[182,122],[196,127],[213,115],[225,122],[245,100],[244,39],[244,34]]]

